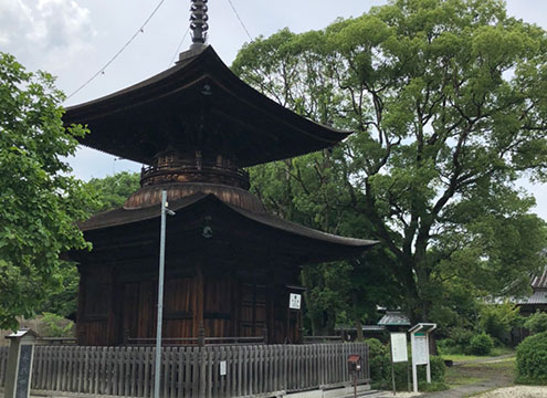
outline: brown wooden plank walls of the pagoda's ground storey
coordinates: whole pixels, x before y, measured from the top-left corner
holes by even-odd
[[[136,272],[130,277],[127,273],[115,277],[112,269],[104,266],[84,271],[78,343],[117,345],[126,338],[147,338],[150,344],[156,337],[157,280],[150,273]],[[294,317],[287,329],[286,291],[273,277],[260,269],[232,274],[225,269],[207,271],[202,296],[196,274],[171,274],[166,280],[164,337],[198,337],[199,307],[206,337],[262,337],[267,326],[270,344],[284,343],[287,336],[293,343],[298,341],[299,320]]]

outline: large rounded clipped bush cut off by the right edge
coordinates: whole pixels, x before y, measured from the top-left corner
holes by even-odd
[[[547,332],[526,337],[517,346],[517,381],[547,384]]]

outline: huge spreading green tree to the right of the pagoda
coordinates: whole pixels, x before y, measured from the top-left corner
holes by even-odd
[[[448,283],[513,294],[539,270],[545,223],[516,182],[546,177],[546,49],[545,31],[502,1],[392,0],[322,31],[259,38],[232,69],[302,115],[355,130],[298,160],[317,170],[314,156],[327,159],[346,208],[328,187],[291,206],[322,201],[309,218],[336,208],[366,220],[412,321],[429,321]],[[276,167],[298,184],[303,169]]]

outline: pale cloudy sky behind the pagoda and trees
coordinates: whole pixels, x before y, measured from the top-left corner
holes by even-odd
[[[161,2],[161,4],[160,4]],[[259,35],[288,28],[305,32],[327,27],[336,18],[358,17],[386,0],[210,0],[209,43],[230,65],[239,49]],[[135,40],[95,80],[65,105],[75,105],[138,83],[169,66],[190,45],[190,0],[0,0],[0,51],[13,54],[29,71],[57,76],[67,95],[101,71],[157,12]],[[231,8],[236,10],[239,18]],[[507,0],[511,15],[547,29],[547,1]],[[182,43],[177,52],[179,44]],[[70,159],[76,177],[87,180],[140,165],[80,148]],[[535,211],[547,220],[547,186],[522,182],[537,200]]]

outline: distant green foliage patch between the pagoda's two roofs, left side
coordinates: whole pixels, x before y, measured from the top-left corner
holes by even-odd
[[[95,189],[97,206],[93,212],[115,209],[124,205],[127,198],[139,188],[140,176],[137,172],[122,171],[105,178],[92,178],[87,184]]]

